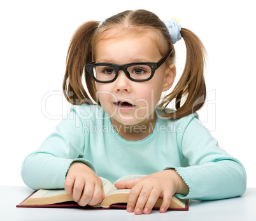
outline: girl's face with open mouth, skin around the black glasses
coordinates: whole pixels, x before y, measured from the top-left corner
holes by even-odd
[[[132,62],[158,62],[162,58],[155,43],[145,35],[99,41],[95,53],[96,63],[120,65]],[[120,70],[114,82],[96,83],[99,102],[115,124],[143,125],[153,122],[161,93],[171,87],[175,74],[174,65],[162,64],[155,70],[152,79],[135,82],[128,79]],[[120,101],[129,104],[120,105]]]

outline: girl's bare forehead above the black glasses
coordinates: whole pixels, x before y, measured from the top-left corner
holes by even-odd
[[[125,57],[126,53],[127,58],[133,56],[134,60],[142,61],[138,58],[148,57],[148,60],[144,60],[156,62],[155,57],[159,58],[162,55],[159,50],[159,39],[159,34],[154,30],[145,28],[129,30],[117,27],[104,30],[97,35],[92,44],[93,60],[102,62],[101,60],[114,57],[114,55]]]

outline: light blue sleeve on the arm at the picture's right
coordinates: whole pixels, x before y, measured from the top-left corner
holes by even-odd
[[[246,189],[246,172],[238,159],[229,156],[197,119],[189,120],[183,133],[177,134],[183,164],[175,168],[188,185],[186,197],[198,200],[240,196]],[[183,124],[185,125],[185,124]]]

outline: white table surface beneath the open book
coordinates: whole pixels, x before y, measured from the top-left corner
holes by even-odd
[[[150,215],[134,215],[126,210],[93,210],[73,208],[16,208],[33,191],[28,187],[0,187],[0,220],[256,220],[256,188],[243,196],[218,201],[190,201],[189,211],[155,210]]]

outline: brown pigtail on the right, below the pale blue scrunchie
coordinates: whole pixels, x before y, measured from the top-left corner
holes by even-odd
[[[201,40],[188,29],[181,28],[186,48],[187,58],[183,74],[174,90],[163,98],[160,106],[164,107],[164,117],[179,119],[192,114],[203,107],[206,100],[206,85],[204,82],[204,63],[206,50]],[[181,105],[181,98],[186,97]],[[175,100],[176,111],[166,112],[167,105]]]

